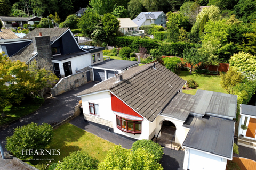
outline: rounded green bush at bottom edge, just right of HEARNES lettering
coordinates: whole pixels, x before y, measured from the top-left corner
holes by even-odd
[[[69,156],[63,158],[61,163],[58,163],[55,170],[96,170],[99,160],[91,157],[84,151],[71,152]]]

